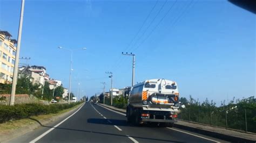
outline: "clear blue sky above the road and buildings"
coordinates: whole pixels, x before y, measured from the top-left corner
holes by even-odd
[[[20,8],[0,0],[0,29],[14,38]],[[26,0],[20,55],[68,88],[70,53],[58,46],[87,48],[73,54],[75,94],[78,83],[89,96],[102,92],[100,82],[109,89],[105,71],[114,88],[131,85],[132,57],[121,53],[133,52],[135,82],[174,80],[181,96],[217,104],[255,96],[255,15],[227,1]]]

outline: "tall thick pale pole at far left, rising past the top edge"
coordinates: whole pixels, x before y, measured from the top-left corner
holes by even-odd
[[[20,49],[20,46],[21,46],[24,4],[25,4],[25,0],[22,0],[21,16],[19,18],[18,42],[17,42],[17,49],[16,49],[16,55],[15,55],[14,76],[12,78],[10,105],[14,105],[14,102],[15,102],[16,84],[17,84],[17,80],[18,80],[19,49]]]

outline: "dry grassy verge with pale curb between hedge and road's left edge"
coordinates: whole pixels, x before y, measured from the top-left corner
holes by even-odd
[[[35,130],[41,126],[48,125],[52,121],[62,120],[64,117],[71,115],[84,103],[73,106],[70,109],[59,111],[58,113],[50,113],[46,115],[31,116],[29,118],[6,121],[0,124],[0,142],[19,137],[25,133]]]

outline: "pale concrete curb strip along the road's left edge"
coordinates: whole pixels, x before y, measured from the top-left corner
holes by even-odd
[[[75,112],[75,110],[79,109],[80,106],[83,106],[83,105],[84,105],[84,103],[80,104],[75,109],[72,109],[68,112],[64,112],[64,113],[62,113],[60,115],[57,115],[57,116],[54,116],[52,118],[36,121],[35,123],[33,123],[31,125],[26,125],[24,127],[18,128],[17,130],[13,130],[13,131],[10,131],[8,133],[0,134],[0,142],[6,142],[8,140],[14,139],[16,137],[19,137],[19,136],[25,134],[25,133],[31,132],[31,131],[35,130],[36,128],[38,128],[38,127],[41,127],[42,125],[47,125],[47,124],[51,123],[52,121],[56,121],[58,119],[61,119],[64,116],[70,115],[72,112]]]

